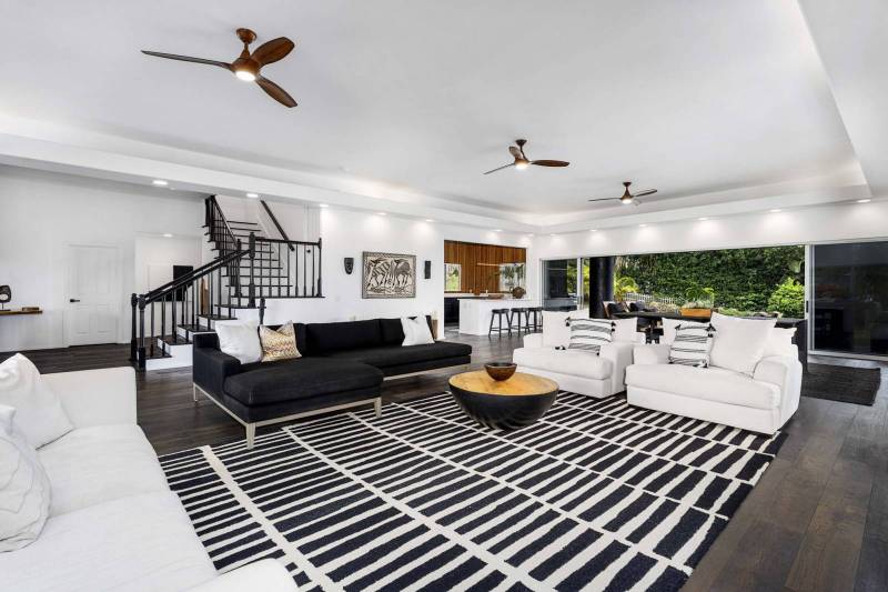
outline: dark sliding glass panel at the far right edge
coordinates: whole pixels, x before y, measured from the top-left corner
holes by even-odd
[[[888,242],[811,247],[813,349],[888,355]]]

